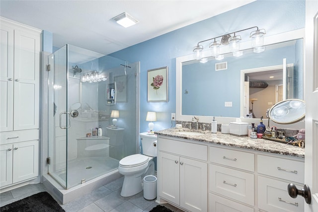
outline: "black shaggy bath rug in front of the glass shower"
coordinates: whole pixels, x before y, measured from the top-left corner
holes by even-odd
[[[41,192],[2,206],[0,212],[65,212],[47,192]]]

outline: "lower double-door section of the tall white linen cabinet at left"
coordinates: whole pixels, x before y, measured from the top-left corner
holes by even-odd
[[[39,174],[39,141],[0,146],[0,187],[29,180]]]

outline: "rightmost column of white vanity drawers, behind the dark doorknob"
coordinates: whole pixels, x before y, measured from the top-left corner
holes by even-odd
[[[258,208],[260,211],[302,212],[302,196],[291,198],[287,186],[304,186],[305,164],[292,158],[257,155]]]

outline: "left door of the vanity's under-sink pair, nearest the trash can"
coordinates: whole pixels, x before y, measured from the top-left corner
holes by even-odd
[[[159,152],[158,160],[159,195],[179,205],[179,156]]]

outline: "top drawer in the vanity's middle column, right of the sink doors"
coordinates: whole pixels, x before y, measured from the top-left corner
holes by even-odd
[[[254,154],[210,146],[210,162],[254,171]]]

